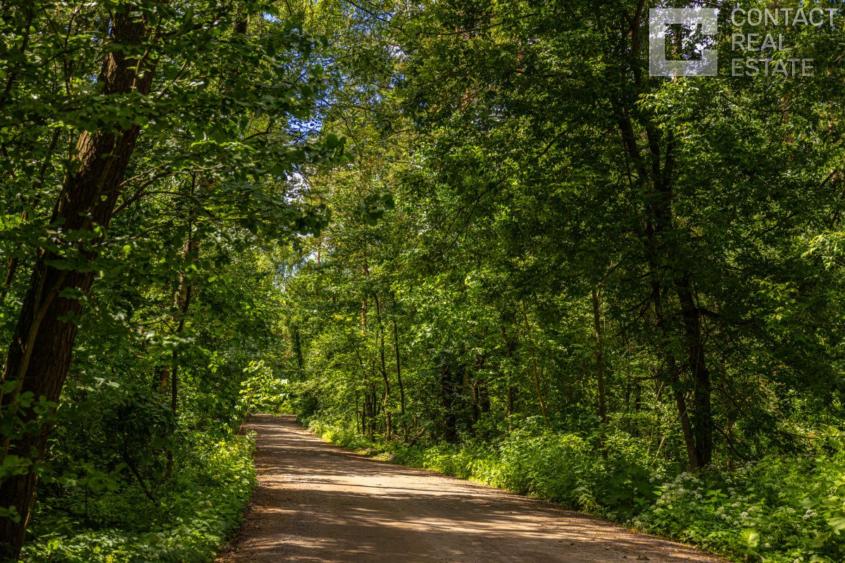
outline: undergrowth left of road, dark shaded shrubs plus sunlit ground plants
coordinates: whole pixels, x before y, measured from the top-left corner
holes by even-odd
[[[160,394],[71,382],[73,403],[52,416],[21,563],[215,560],[256,484],[254,435],[243,423],[283,403],[285,382],[264,362],[237,377],[226,392],[194,389],[194,409],[178,420]]]

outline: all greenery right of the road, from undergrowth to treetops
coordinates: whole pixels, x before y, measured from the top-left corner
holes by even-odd
[[[739,558],[841,560],[837,26],[784,30],[814,77],[667,79],[637,3],[372,8],[345,62],[369,81],[326,115],[357,159],[310,177],[333,222],[286,263],[302,420]]]

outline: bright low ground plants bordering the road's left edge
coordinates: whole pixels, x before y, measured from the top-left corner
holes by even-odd
[[[62,563],[206,562],[232,538],[255,483],[253,441],[183,433],[181,461],[158,501],[137,486],[96,495],[90,484],[65,486],[57,512],[42,499],[22,561]],[[75,496],[75,499],[68,499]],[[85,512],[82,512],[85,510]],[[79,511],[79,512],[75,512]]]

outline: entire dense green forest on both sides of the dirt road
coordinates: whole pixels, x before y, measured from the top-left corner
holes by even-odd
[[[765,30],[812,76],[701,78],[654,7],[0,2],[0,559],[208,560],[286,410],[842,561],[840,4]]]

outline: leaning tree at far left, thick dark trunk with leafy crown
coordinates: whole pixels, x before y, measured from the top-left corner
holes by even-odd
[[[5,142],[25,149],[20,164],[26,166],[33,156],[27,152],[32,133],[19,133],[26,128],[20,120],[36,97],[30,98],[33,89],[44,84],[51,96],[33,108],[35,125],[79,134],[68,147],[72,158],[63,163],[61,192],[51,202],[51,192],[34,186],[36,196],[44,196],[41,205],[52,204],[49,218],[36,219],[30,202],[30,223],[6,233],[37,251],[3,371],[3,460],[12,470],[0,476],[0,496],[8,502],[0,537],[8,541],[3,556],[13,559],[35,494],[33,462],[43,455],[50,429],[43,418],[55,408],[68,374],[85,296],[97,273],[119,268],[106,253],[115,242],[108,231],[112,217],[166,190],[173,176],[191,173],[224,181],[216,198],[199,206],[204,213],[218,206],[217,214],[254,232],[319,230],[324,220],[319,211],[286,202],[272,187],[264,193],[258,181],[284,177],[303,163],[344,158],[337,139],[331,146],[295,143],[283,128],[290,120],[308,119],[321,68],[305,68],[304,81],[285,84],[279,78],[319,42],[298,34],[294,19],[271,21],[278,13],[269,4],[115,2],[106,9],[79,4],[69,11],[50,3],[27,6],[16,8],[28,14],[16,22],[24,22],[22,39],[8,44],[14,56],[5,71]],[[232,39],[247,15],[261,20],[261,32]],[[47,30],[41,37],[33,35],[36,18]],[[94,26],[95,41],[86,37],[85,24]],[[101,61],[95,81],[85,66],[73,64],[82,58],[74,48],[85,41],[90,50],[85,54]],[[38,68],[35,60],[54,65]],[[226,73],[236,67],[250,72]],[[63,89],[53,87],[55,68],[64,68]],[[213,88],[214,83],[220,85]],[[170,128],[192,131],[194,143],[172,143]],[[10,163],[9,175],[17,177],[18,164]],[[254,184],[246,182],[248,174]],[[43,172],[39,181],[45,181]],[[132,230],[143,232],[154,218],[141,212],[134,219]]]

